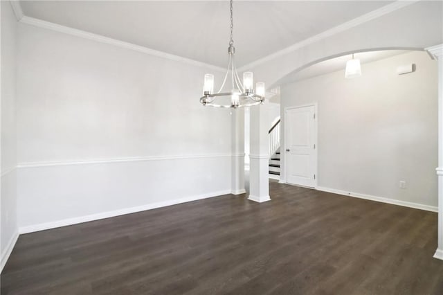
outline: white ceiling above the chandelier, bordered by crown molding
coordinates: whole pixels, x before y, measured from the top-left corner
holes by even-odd
[[[392,1],[234,1],[237,66]],[[21,1],[24,15],[226,66],[228,1]]]

